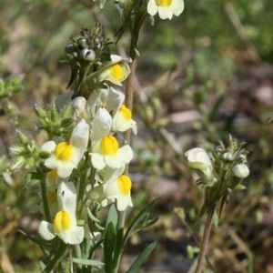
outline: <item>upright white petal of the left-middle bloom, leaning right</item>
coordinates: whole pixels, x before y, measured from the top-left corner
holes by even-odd
[[[89,126],[86,124],[86,120],[82,119],[74,128],[70,143],[74,147],[82,149],[83,153],[86,151],[89,137]]]

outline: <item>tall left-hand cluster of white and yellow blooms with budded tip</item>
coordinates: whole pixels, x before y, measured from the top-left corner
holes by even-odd
[[[97,61],[99,66],[90,69],[90,86],[74,92],[75,98],[70,102],[75,120],[71,136],[50,139],[41,147],[46,155],[46,202],[52,217],[47,216],[39,226],[45,240],[57,236],[71,245],[90,238],[86,211],[93,210],[94,202],[100,207],[116,203],[120,212],[133,207],[132,182],[125,174],[133,150],[122,140],[122,133],[129,129],[136,133],[136,121],[125,105],[125,96],[114,88],[122,86],[129,75],[130,60],[109,55],[102,63],[103,46],[98,50],[97,43],[87,37],[78,38],[76,43],[73,50],[79,54],[70,56],[71,66],[78,57],[92,66]],[[82,65],[77,67],[79,71],[90,64]],[[79,225],[79,219],[84,220],[83,224]],[[94,234],[96,230],[92,230]]]

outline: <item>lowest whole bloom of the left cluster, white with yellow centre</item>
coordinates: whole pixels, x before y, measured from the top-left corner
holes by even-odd
[[[56,236],[66,244],[80,244],[85,235],[84,227],[76,225],[76,188],[73,183],[62,182],[57,189],[58,211],[53,223],[42,221],[39,234],[45,240]]]

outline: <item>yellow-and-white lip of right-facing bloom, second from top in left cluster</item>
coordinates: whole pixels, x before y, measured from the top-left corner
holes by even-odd
[[[125,132],[126,130],[133,128],[136,133],[136,121],[132,119],[132,112],[126,105],[120,106],[116,115],[113,118],[113,130],[118,132]]]

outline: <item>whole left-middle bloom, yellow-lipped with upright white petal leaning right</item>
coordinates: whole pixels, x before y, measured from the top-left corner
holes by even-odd
[[[74,168],[84,156],[88,144],[89,126],[82,119],[74,128],[70,141],[47,141],[42,150],[50,153],[51,157],[45,159],[45,167],[56,169],[58,177],[69,177]]]

